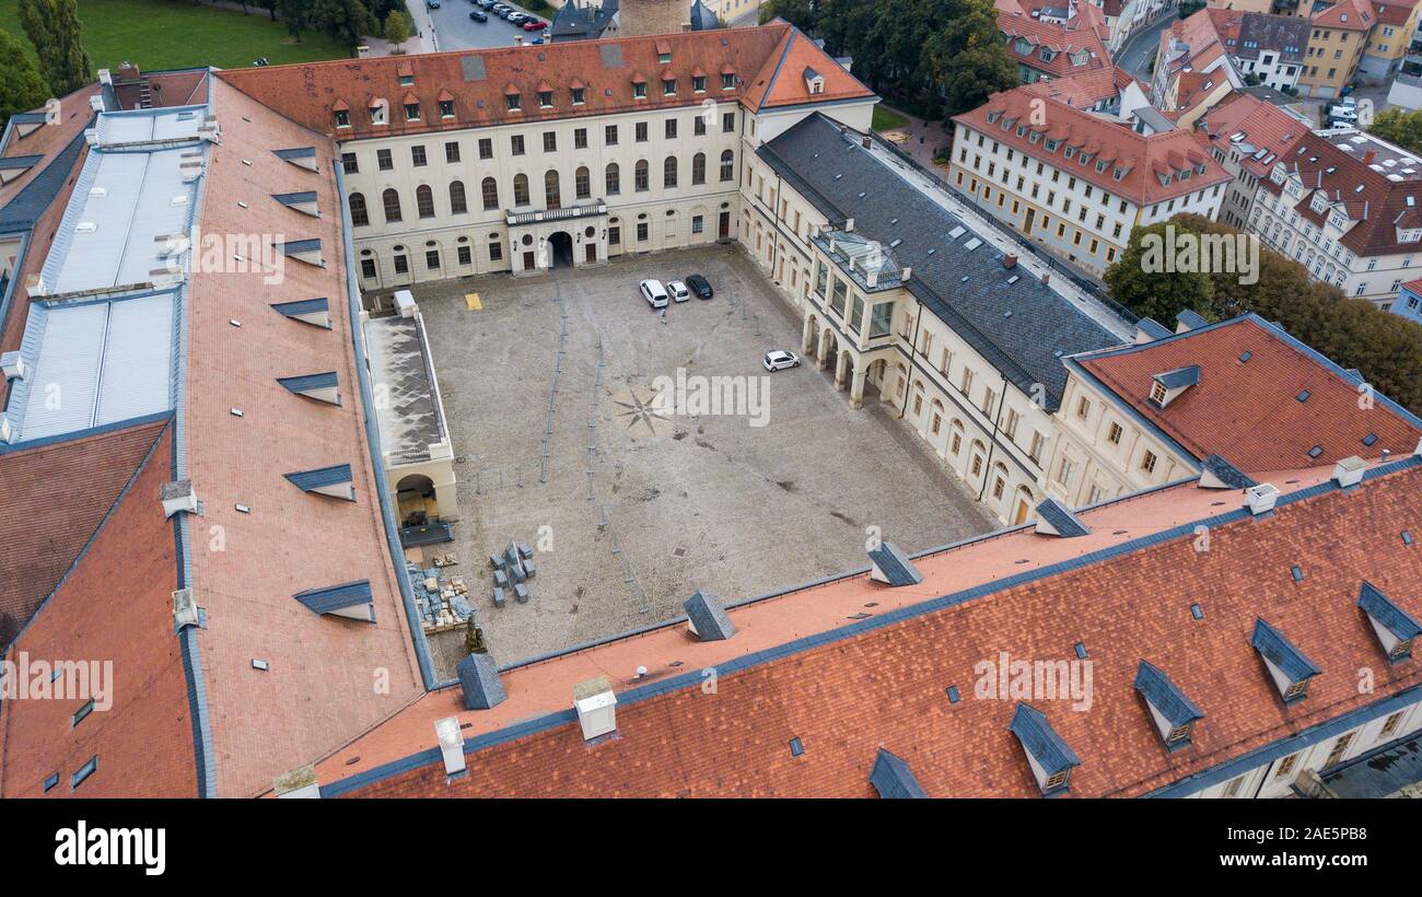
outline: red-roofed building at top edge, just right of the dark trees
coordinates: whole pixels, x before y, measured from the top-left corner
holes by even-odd
[[[997,0],[997,27],[1027,84],[1111,67],[1106,23],[1095,6]]]

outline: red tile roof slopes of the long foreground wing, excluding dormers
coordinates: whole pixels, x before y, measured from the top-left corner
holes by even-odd
[[[1017,581],[987,580],[983,589],[966,591],[984,581],[970,579],[978,553],[1027,554],[1032,544],[1074,542],[1030,530],[988,537],[916,562],[920,570],[957,580],[947,589],[941,579],[887,589],[865,576],[823,587],[853,589],[869,617],[855,625],[842,621],[828,633],[823,624],[811,628],[785,618],[781,631],[791,638],[825,634],[754,657],[744,651],[759,651],[759,643],[737,648],[737,640],[765,624],[757,614],[768,616],[774,608],[766,604],[788,606],[798,596],[813,601],[820,590],[737,608],[731,614],[741,631],[717,644],[722,652],[742,654],[717,667],[714,689],[704,687],[700,672],[712,665],[700,654],[707,643],[681,628],[675,630],[680,644],[661,638],[656,647],[647,643],[629,654],[623,648],[633,638],[593,648],[584,654],[594,657],[582,665],[600,667],[623,688],[617,734],[594,743],[583,741],[567,712],[576,680],[562,682],[563,715],[525,718],[523,735],[499,726],[488,731],[486,718],[501,708],[456,711],[449,695],[427,695],[422,704],[437,705],[429,712],[419,705],[407,711],[422,716],[417,728],[404,729],[407,755],[434,746],[429,718],[449,709],[444,715],[458,715],[471,726],[466,739],[481,738],[466,753],[468,775],[447,779],[432,752],[404,770],[333,782],[331,776],[343,775],[348,753],[360,753],[357,768],[367,769],[364,755],[380,736],[377,729],[323,763],[319,778],[330,793],[358,796],[863,797],[875,793],[869,770],[883,748],[907,761],[930,796],[1035,796],[1037,783],[1008,732],[1015,701],[978,697],[978,682],[990,675],[981,664],[998,662],[1003,652],[1010,660],[1069,660],[1072,645],[1082,643],[1094,667],[1089,708],[1076,712],[1064,699],[1035,704],[1082,761],[1071,793],[1145,795],[1422,682],[1422,661],[1382,661],[1376,637],[1355,607],[1361,583],[1368,580],[1406,611],[1422,613],[1422,553],[1398,536],[1422,519],[1422,462],[1408,459],[1388,471],[1374,471],[1349,495],[1325,483],[1285,496],[1264,520],[1241,519],[1239,493],[1233,493],[1233,507],[1202,515],[1229,515],[1210,519],[1207,553],[1196,550],[1194,523],[1186,517],[1165,539],[1119,543],[1091,559],[1079,556]],[[1084,516],[1099,533],[1105,519],[1130,510],[1150,519],[1200,498],[1219,500],[1230,493],[1186,485]],[[1094,536],[1099,537],[1088,539]],[[1301,583],[1290,576],[1291,564],[1304,569]],[[954,566],[960,573],[944,571]],[[904,591],[924,603],[902,610],[875,604],[896,606]],[[835,600],[838,593],[823,594]],[[1196,603],[1203,606],[1200,620],[1192,617]],[[1303,701],[1281,704],[1250,647],[1257,617],[1322,670]],[[650,680],[621,678],[630,657],[653,668]],[[685,664],[667,667],[671,660]],[[1163,670],[1203,709],[1190,746],[1176,752],[1162,746],[1132,687],[1142,660]],[[562,662],[555,658],[545,668]],[[1357,688],[1359,667],[1378,677],[1371,694]],[[506,704],[538,675],[539,667],[505,674]],[[675,675],[684,678],[658,684]],[[957,704],[944,694],[950,685],[960,689]],[[398,728],[401,718],[387,725]],[[801,742],[801,756],[792,755],[791,739]]]

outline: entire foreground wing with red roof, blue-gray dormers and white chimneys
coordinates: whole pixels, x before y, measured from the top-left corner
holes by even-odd
[[[1332,466],[1271,479],[1270,512],[1185,482],[926,552],[889,583],[846,574],[720,617],[693,603],[698,633],[729,637],[683,618],[509,670],[492,709],[466,709],[476,685],[435,691],[321,759],[320,792],[1391,795],[1422,729],[1422,458],[1354,465],[1348,486]],[[658,657],[678,664],[634,677]],[[1089,705],[1068,681],[1086,661]],[[1055,698],[1012,697],[1020,662]]]

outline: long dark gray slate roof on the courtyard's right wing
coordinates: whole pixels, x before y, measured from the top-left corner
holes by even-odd
[[[1061,355],[1122,340],[1031,274],[1004,269],[991,243],[966,249],[980,236],[971,226],[865,149],[859,135],[839,128],[816,112],[757,155],[832,223],[852,217],[856,233],[884,246],[902,240],[892,252],[913,269],[910,293],[1020,390],[1031,394],[1042,384],[1047,409],[1054,411],[1066,385]],[[950,239],[960,226],[966,232]],[[1018,280],[1008,284],[1014,274]]]

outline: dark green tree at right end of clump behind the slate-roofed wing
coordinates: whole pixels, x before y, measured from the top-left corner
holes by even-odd
[[[944,121],[1021,82],[997,28],[997,10],[987,0],[956,0],[950,6],[954,7],[951,18],[927,45]]]

